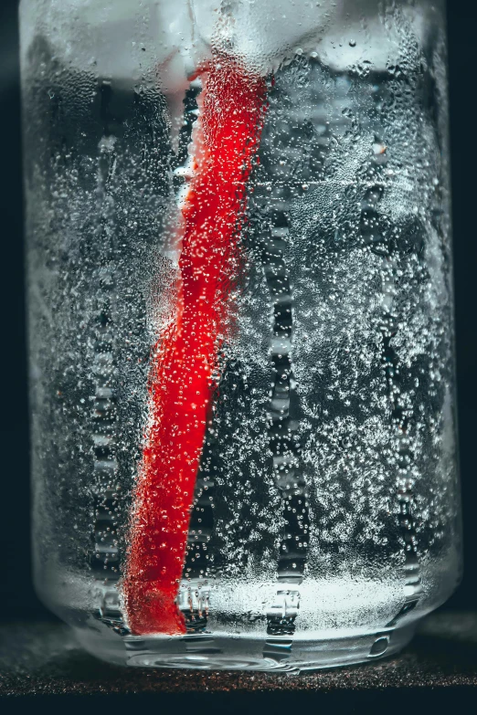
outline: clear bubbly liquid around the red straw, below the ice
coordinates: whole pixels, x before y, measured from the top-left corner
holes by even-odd
[[[119,638],[197,89],[174,144],[154,86],[72,72],[36,43],[37,584],[67,620],[93,615]],[[374,633],[458,578],[445,89],[439,58],[401,49],[407,64],[386,71],[296,55],[275,73],[196,483],[179,597],[191,634]]]

